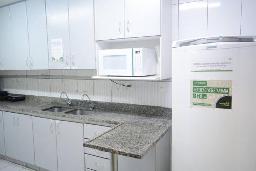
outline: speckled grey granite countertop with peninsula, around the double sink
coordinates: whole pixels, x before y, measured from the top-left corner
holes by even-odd
[[[170,116],[106,111],[102,109],[96,109],[94,114],[78,116],[65,114],[64,112],[48,112],[41,110],[52,106],[66,105],[49,101],[33,100],[0,102],[1,111],[63,121],[111,126],[113,127],[111,130],[87,141],[84,143],[84,146],[138,159],[142,159],[147,152],[156,145],[171,125]],[[69,106],[69,108],[71,108],[71,110],[77,109],[76,106],[73,108]]]

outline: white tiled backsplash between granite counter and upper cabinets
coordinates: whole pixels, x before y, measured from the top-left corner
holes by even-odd
[[[116,81],[131,84],[120,87],[110,80],[92,80],[95,70],[10,70],[0,71],[1,90],[9,93],[60,97],[66,92],[71,99],[87,94],[92,100],[171,107],[172,82]]]

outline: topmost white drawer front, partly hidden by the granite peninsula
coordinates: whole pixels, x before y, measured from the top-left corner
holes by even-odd
[[[84,138],[92,139],[110,129],[111,127],[84,124]]]

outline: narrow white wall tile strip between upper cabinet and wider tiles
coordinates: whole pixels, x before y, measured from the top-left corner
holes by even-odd
[[[178,40],[179,5],[172,5],[172,41]]]

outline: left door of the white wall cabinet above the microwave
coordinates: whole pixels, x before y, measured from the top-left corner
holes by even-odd
[[[95,39],[124,38],[124,0],[94,0]]]

